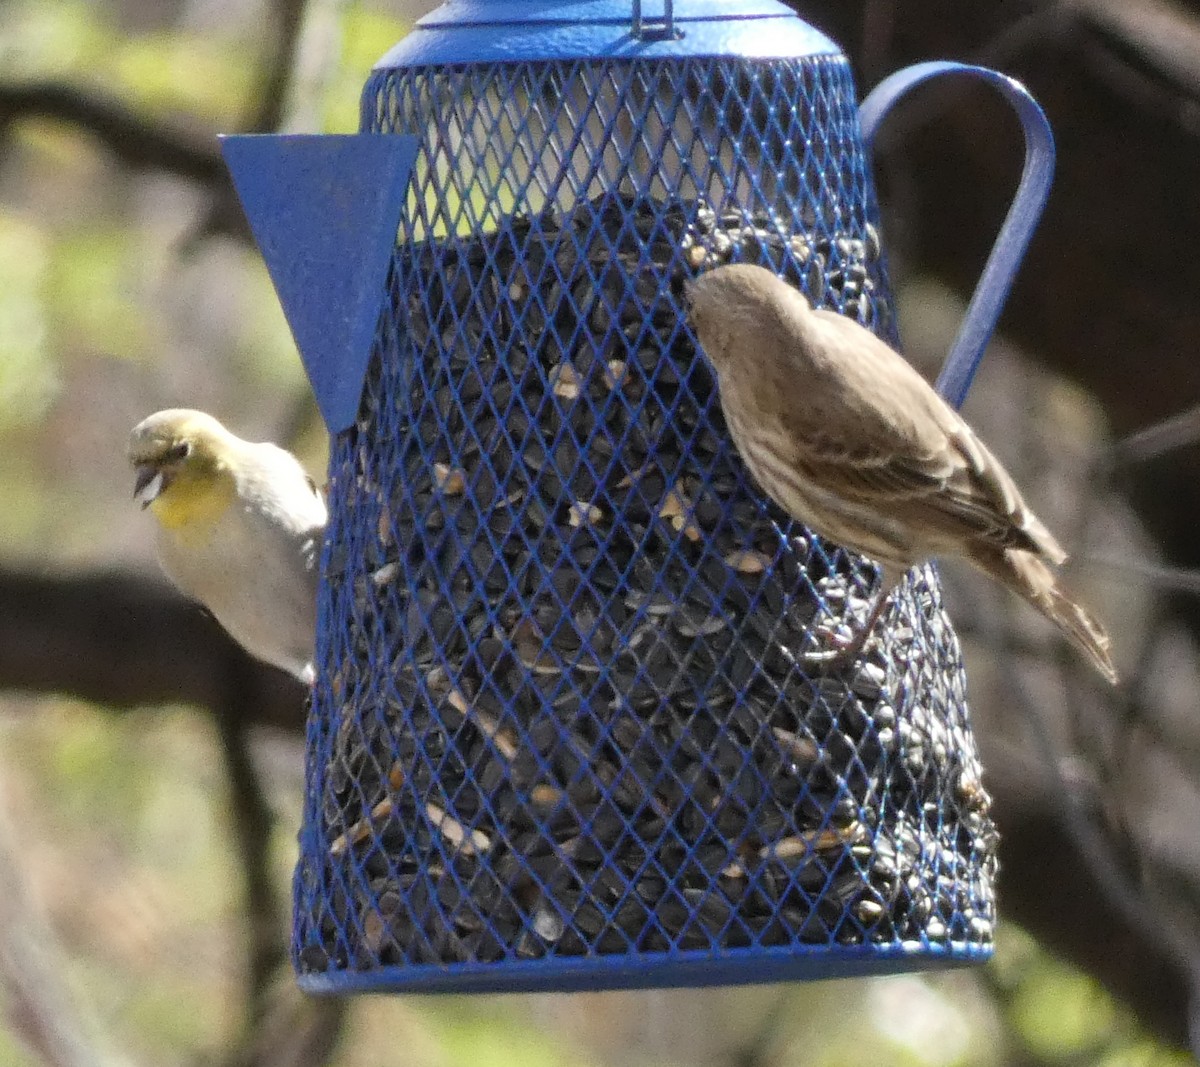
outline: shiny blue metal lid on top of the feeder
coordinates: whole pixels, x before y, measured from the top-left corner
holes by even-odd
[[[635,12],[641,8],[641,19]],[[376,64],[737,56],[841,49],[779,0],[449,0]]]

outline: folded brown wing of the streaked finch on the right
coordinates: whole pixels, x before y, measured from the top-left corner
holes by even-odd
[[[898,508],[930,533],[1066,558],[1000,461],[899,353],[844,316],[815,314],[846,371],[808,376],[806,410],[782,413],[806,478],[847,500]]]

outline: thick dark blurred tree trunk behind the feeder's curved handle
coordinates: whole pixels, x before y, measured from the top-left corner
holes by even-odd
[[[864,90],[877,71],[926,59],[983,61],[1024,82],[1050,118],[1058,166],[1002,329],[1092,392],[1118,434],[1200,403],[1194,4],[925,2],[890,22],[865,2],[791,4],[852,49]],[[1016,121],[988,90],[948,85],[914,94],[884,133],[877,163],[893,262],[968,293],[1016,185]],[[1200,565],[1198,464],[1192,444],[1144,464],[1133,486],[1170,564]],[[1200,633],[1200,601],[1177,597],[1172,607]]]

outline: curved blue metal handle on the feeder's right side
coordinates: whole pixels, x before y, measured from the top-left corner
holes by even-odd
[[[996,329],[1004,300],[1008,299],[1013,280],[1021,265],[1033,230],[1042,217],[1050,184],[1054,180],[1054,133],[1045,112],[1030,91],[1014,78],[988,67],[961,62],[923,62],[905,67],[884,78],[863,101],[858,109],[858,121],[863,130],[863,146],[870,155],[875,133],[892,106],[910,89],[941,74],[967,74],[980,78],[1001,91],[1013,106],[1025,131],[1025,168],[1016,187],[1012,206],[996,236],[988,263],[976,284],[966,316],[954,338],[950,354],[946,358],[942,373],[937,378],[937,391],[954,407],[966,398],[971,380],[983,359],[984,348]]]

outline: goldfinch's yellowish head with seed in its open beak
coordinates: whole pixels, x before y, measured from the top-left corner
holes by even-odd
[[[155,412],[130,434],[130,462],[136,472],[133,498],[169,520],[230,481],[228,460],[233,434],[211,415],[188,408]]]

